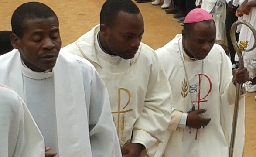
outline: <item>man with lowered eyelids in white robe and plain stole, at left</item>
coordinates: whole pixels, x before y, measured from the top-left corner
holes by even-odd
[[[106,86],[89,61],[59,54],[54,11],[24,3],[11,25],[15,49],[0,57],[0,82],[26,102],[44,137],[45,156],[121,157]]]

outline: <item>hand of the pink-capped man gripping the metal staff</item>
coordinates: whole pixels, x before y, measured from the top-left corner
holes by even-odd
[[[245,83],[249,80],[249,72],[247,68],[242,68],[242,70],[234,69],[233,70],[233,83]]]

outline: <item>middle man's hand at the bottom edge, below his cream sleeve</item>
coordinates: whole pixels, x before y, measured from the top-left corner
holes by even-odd
[[[143,145],[139,143],[130,143],[121,150],[122,157],[140,157]]]

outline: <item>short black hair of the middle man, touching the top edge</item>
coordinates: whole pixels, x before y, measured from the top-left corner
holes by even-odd
[[[106,0],[100,11],[100,24],[113,25],[119,12],[139,14],[140,9],[131,0]]]

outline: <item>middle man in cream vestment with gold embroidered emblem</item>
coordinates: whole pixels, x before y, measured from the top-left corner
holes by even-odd
[[[131,0],[107,0],[100,25],[62,48],[88,59],[106,84],[124,157],[153,157],[171,119],[170,85],[143,33]]]

